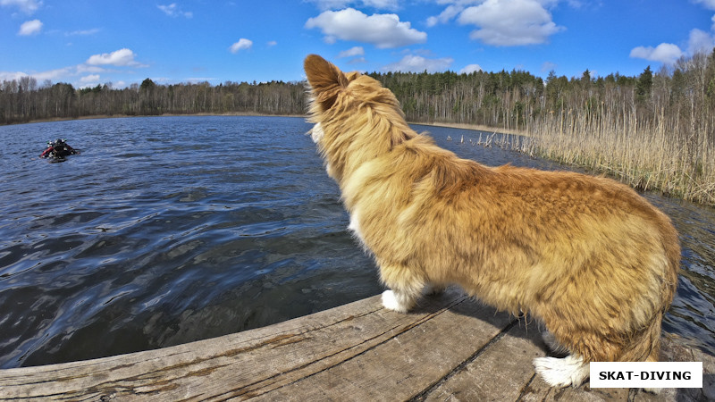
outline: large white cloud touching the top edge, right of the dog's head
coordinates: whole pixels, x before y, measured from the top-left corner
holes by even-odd
[[[465,9],[458,22],[479,27],[469,37],[492,46],[542,44],[565,29],[537,0],[486,0]]]

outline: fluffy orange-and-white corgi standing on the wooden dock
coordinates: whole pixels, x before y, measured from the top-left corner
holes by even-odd
[[[665,214],[614,180],[460,159],[411,130],[371,77],[315,54],[305,71],[312,138],[390,288],[386,308],[457,284],[531,314],[569,353],[534,359],[551,386],[577,386],[590,362],[657,361],[680,260]]]

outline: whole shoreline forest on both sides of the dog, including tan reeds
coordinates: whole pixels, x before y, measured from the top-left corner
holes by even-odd
[[[546,80],[527,71],[372,72],[408,121],[529,136],[518,150],[607,172],[637,188],[715,205],[715,49],[637,76]],[[0,85],[0,124],[90,116],[307,111],[304,82],[73,88],[31,77]]]

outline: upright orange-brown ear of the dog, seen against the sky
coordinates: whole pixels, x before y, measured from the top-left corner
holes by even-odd
[[[315,101],[324,110],[330,109],[340,90],[348,86],[348,78],[339,68],[317,54],[308,55],[303,67],[306,70],[307,82],[313,89]]]

